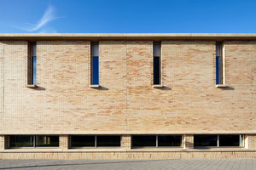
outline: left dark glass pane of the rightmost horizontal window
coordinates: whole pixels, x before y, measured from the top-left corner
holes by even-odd
[[[217,146],[218,135],[194,135],[194,146]]]

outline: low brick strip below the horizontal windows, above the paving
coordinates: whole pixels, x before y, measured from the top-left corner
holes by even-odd
[[[2,152],[0,159],[186,159],[186,158],[255,158],[255,151],[127,151],[127,152]]]

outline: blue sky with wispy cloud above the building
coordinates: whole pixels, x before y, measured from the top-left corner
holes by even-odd
[[[0,33],[256,33],[256,1],[0,0]]]

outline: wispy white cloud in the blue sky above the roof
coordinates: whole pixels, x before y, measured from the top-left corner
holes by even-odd
[[[49,21],[59,19],[60,17],[55,16],[55,8],[52,5],[49,5],[49,7],[44,12],[43,17],[38,21],[37,24],[31,24],[31,23],[25,23],[24,26],[15,26],[16,28],[24,31],[38,31],[39,29],[46,26]]]

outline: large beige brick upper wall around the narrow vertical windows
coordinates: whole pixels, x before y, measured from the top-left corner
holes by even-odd
[[[163,41],[156,89],[152,41],[101,41],[101,88],[89,87],[89,41],[38,41],[32,89],[27,42],[1,42],[1,132],[253,132],[255,42],[224,43],[228,88],[215,88],[215,42]]]

